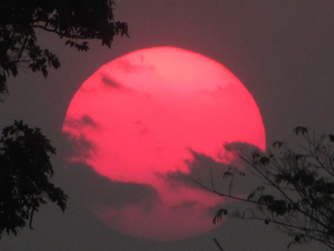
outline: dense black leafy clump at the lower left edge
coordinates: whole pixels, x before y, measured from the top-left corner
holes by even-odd
[[[55,154],[39,128],[21,121],[6,127],[0,138],[0,238],[3,231],[17,234],[46,199],[64,212],[67,195],[49,181],[53,176],[49,154]]]

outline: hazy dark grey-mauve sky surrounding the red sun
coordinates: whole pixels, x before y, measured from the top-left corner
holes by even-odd
[[[58,152],[52,157],[53,180],[69,199],[65,214],[56,205],[40,207],[34,215],[35,230],[26,228],[17,237],[4,235],[0,250],[218,250],[213,238],[225,251],[286,249],[288,239],[273,226],[235,219],[204,235],[171,242],[136,239],[112,230],[90,214],[87,200],[125,203],[136,197],[127,191],[104,197],[110,191],[106,180],[66,164],[63,157],[69,149],[61,127],[74,93],[102,65],[138,49],[173,46],[211,58],[239,78],[259,106],[268,146],[274,140],[289,140],[299,125],[333,133],[334,2],[125,0],[116,4],[115,19],[128,23],[130,38],[117,37],[111,50],[91,41],[90,51],[79,53],[65,47],[65,40],[40,32],[38,41],[60,58],[61,68],[51,70],[47,80],[26,69],[8,79],[10,95],[1,104],[1,128],[23,119],[42,129]],[[115,187],[124,190],[122,184]]]

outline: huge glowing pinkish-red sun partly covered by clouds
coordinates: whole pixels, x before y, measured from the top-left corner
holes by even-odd
[[[191,173],[194,152],[226,163],[225,143],[266,147],[261,114],[242,83],[221,64],[172,47],[102,66],[74,95],[62,130],[74,142],[89,142],[71,161],[113,182],[152,188],[155,199],[96,205],[94,214],[120,232],[155,240],[212,229],[209,209],[223,202],[167,174]]]

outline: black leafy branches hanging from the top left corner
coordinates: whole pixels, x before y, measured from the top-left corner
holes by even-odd
[[[111,0],[0,1],[0,94],[8,94],[6,76],[16,76],[27,65],[46,78],[47,67],[60,67],[59,59],[37,45],[36,31],[67,38],[65,45],[88,51],[88,42],[100,39],[109,48],[115,35],[128,35],[124,22],[114,22]]]

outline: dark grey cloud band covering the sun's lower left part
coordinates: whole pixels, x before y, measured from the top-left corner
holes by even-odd
[[[114,181],[87,164],[92,155],[98,155],[98,149],[85,135],[65,134],[63,137],[67,144],[64,144],[60,154],[69,160],[65,170],[66,179],[71,184],[68,191],[75,194],[80,204],[94,211],[97,205],[119,208],[127,204],[145,203],[147,210],[150,210],[153,203],[160,200],[158,192],[150,184]]]

